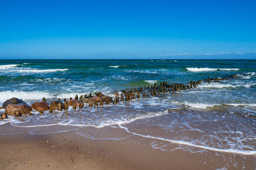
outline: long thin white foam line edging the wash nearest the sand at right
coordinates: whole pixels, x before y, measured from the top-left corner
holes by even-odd
[[[187,145],[187,146],[193,146],[195,148],[202,148],[202,149],[205,149],[205,150],[212,150],[214,152],[238,153],[238,154],[242,154],[242,155],[255,155],[256,154],[255,150],[236,150],[236,149],[233,149],[233,148],[222,149],[222,148],[214,148],[214,147],[211,147],[211,146],[196,145],[196,144],[191,143],[189,141],[172,140],[172,139],[159,138],[159,137],[150,136],[150,135],[138,134],[138,133],[129,131],[129,129],[127,127],[124,127],[121,124],[119,124],[119,127],[124,129],[125,131],[131,133],[131,134],[134,134],[136,136],[141,136],[143,138],[158,139],[158,140],[161,140],[161,141],[167,141],[167,142],[176,143],[176,144],[179,144],[179,145]]]

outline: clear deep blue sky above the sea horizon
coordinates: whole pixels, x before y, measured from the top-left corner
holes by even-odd
[[[230,53],[256,59],[255,6],[246,0],[1,0],[0,59],[229,59]]]

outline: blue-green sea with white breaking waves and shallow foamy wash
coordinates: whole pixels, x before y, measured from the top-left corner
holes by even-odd
[[[256,154],[256,60],[0,60],[0,106],[12,97],[28,104],[87,96],[95,92],[114,97],[122,90],[227,78],[203,82],[196,89],[166,92],[132,101],[68,111],[33,111],[33,116],[8,117],[13,127],[113,127],[131,135],[156,139],[152,148],[166,150],[176,143],[190,152],[207,150]],[[4,112],[0,110],[0,112]],[[55,132],[51,129],[31,134]],[[1,132],[0,134],[6,134]],[[86,138],[120,140],[115,134]]]

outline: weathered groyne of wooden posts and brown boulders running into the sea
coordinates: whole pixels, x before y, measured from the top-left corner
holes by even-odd
[[[234,76],[233,76],[234,77]],[[13,97],[12,99],[8,99],[3,103],[3,108],[5,109],[5,113],[1,114],[1,119],[8,118],[10,116],[19,117],[21,115],[33,115],[31,111],[39,111],[40,114],[44,114],[44,111],[48,111],[52,113],[54,110],[62,111],[68,110],[68,106],[72,106],[73,110],[77,108],[84,108],[84,106],[93,107],[93,106],[103,106],[104,104],[118,104],[120,102],[126,101],[134,101],[136,99],[161,96],[166,93],[173,92],[181,92],[186,90],[196,89],[203,82],[211,83],[211,82],[220,82],[220,80],[227,80],[228,78],[207,78],[204,80],[198,81],[189,81],[188,83],[174,83],[170,84],[166,81],[161,81],[159,84],[154,83],[154,85],[148,85],[145,87],[140,87],[138,89],[126,89],[120,90],[119,92],[114,92],[115,97],[110,97],[102,94],[101,92],[96,92],[95,96],[92,96],[92,93],[89,95],[84,94],[84,96],[78,97],[76,95],[74,99],[72,97],[67,99],[58,99],[56,101],[52,101],[49,105],[45,99],[42,99],[41,102],[36,102],[29,106],[22,99],[17,99]],[[122,92],[120,94],[120,92]]]

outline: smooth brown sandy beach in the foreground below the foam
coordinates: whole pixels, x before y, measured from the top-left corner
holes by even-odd
[[[128,134],[124,129],[83,127],[79,131],[101,131],[124,139],[84,138],[74,131],[29,134],[46,127],[20,128],[2,125],[1,131],[21,134],[0,136],[0,169],[255,169],[255,155],[220,152],[191,153],[152,148],[153,139]],[[56,131],[56,128],[47,127]],[[171,151],[172,150],[172,151]],[[236,164],[234,163],[236,162]],[[238,163],[237,163],[238,162]]]

